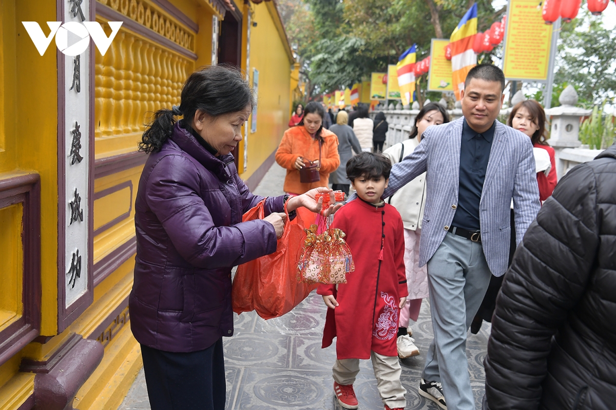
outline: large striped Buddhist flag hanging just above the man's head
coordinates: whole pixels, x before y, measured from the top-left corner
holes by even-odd
[[[452,84],[456,100],[464,89],[466,74],[477,65],[477,55],[472,50],[472,41],[477,34],[477,3],[464,14],[449,39],[452,48]]]

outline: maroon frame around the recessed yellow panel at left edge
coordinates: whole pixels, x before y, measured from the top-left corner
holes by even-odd
[[[41,178],[0,179],[0,208],[22,203],[22,316],[0,331],[0,365],[39,335],[41,329]]]

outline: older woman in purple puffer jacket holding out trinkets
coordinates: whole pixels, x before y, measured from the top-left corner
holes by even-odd
[[[237,69],[210,66],[188,77],[181,99],[156,112],[139,144],[150,156],[135,203],[131,329],[153,410],[222,410],[231,268],[276,250],[285,202],[291,215],[302,206],[318,211],[315,194],[332,191],[269,197],[264,219],[242,222],[263,199],[250,193],[230,154],[253,108],[251,87]]]

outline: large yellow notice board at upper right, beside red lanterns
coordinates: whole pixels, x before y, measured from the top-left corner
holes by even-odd
[[[537,0],[509,0],[503,72],[508,80],[546,81],[552,26]]]

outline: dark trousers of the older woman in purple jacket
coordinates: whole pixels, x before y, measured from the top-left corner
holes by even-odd
[[[205,350],[163,352],[141,345],[152,410],[224,410],[222,338]]]

